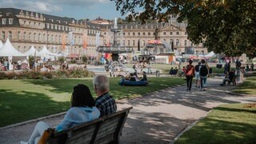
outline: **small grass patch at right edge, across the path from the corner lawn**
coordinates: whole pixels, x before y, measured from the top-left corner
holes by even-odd
[[[242,82],[242,84],[238,85],[235,90],[233,90],[234,93],[238,94],[250,94],[252,96],[256,96],[256,76],[252,76],[249,78],[246,78],[245,82]]]

